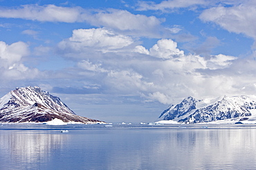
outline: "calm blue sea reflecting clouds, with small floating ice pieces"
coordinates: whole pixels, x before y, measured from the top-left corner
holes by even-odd
[[[0,125],[0,169],[256,169],[256,125]]]

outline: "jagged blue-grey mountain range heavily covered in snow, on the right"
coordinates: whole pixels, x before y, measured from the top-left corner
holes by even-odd
[[[256,110],[256,102],[248,96],[219,98],[184,98],[181,103],[168,107],[158,120],[177,123],[210,123],[218,120],[249,120]],[[244,118],[245,117],[245,118]]]

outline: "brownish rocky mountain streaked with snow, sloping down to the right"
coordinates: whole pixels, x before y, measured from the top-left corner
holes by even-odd
[[[104,123],[77,116],[60,98],[39,87],[21,87],[0,99],[0,123],[46,123],[52,120],[64,123]]]

